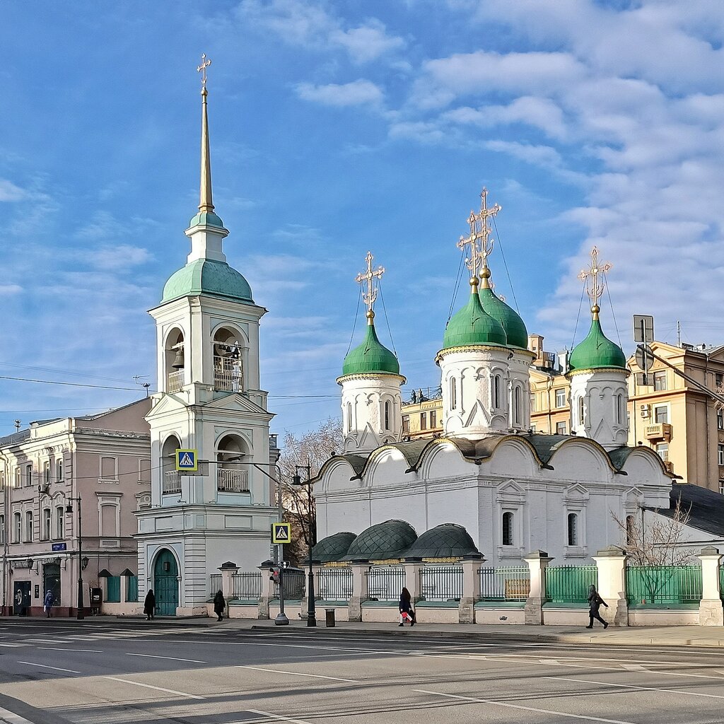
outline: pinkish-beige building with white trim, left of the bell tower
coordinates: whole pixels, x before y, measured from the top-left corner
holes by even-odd
[[[0,438],[3,613],[42,614],[49,589],[57,615],[77,612],[78,497],[83,605],[90,603],[90,586],[111,598],[132,596],[135,578],[129,574],[138,565],[134,511],[151,505],[151,441],[144,419],[150,403],[33,422]]]

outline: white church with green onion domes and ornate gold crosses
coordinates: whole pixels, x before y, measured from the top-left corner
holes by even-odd
[[[328,563],[359,558],[363,543],[374,539],[369,560],[413,560],[416,536],[434,529],[444,534],[452,530],[446,524],[455,523],[458,544],[467,540],[470,552],[471,541],[493,565],[515,565],[535,550],[559,565],[574,565],[624,542],[614,516],[633,523],[643,508],[669,507],[672,474],[648,447],[626,444],[626,357],[601,326],[604,279],[595,249],[584,272],[591,327],[568,360],[572,434],[531,430],[534,354],[523,320],[494,293],[488,265],[490,222],[498,211],[497,204],[487,206],[483,190],[480,211],[468,218],[469,235],[458,243],[468,254],[470,294],[441,330],[435,355],[442,388],[439,437],[403,439],[405,377],[376,334],[376,285],[384,269],[373,270],[368,254],[366,272],[357,279],[368,324],[337,379],[344,450],[313,481],[319,540],[313,557],[333,549]],[[406,531],[405,546],[400,530]],[[455,545],[447,552],[441,547],[437,558],[455,560],[462,550]]]

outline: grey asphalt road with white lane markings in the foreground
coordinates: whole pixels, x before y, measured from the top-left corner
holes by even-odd
[[[0,722],[724,722],[715,649],[415,634],[2,620]]]

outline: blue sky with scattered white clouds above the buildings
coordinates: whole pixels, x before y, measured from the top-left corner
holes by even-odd
[[[339,414],[367,251],[403,395],[439,384],[483,187],[496,291],[547,350],[587,332],[594,245],[627,353],[633,313],[724,342],[723,37],[720,0],[5,0],[0,434],[156,390],[147,310],[189,251],[202,53],[272,432]]]

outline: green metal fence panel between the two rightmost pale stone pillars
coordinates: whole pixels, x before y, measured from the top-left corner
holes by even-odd
[[[697,603],[702,600],[702,567],[627,566],[626,600],[629,605]]]

